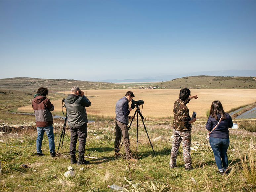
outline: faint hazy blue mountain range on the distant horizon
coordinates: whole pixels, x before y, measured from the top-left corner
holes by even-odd
[[[254,77],[256,76],[256,70],[222,70],[222,71],[200,71],[193,73],[185,73],[179,75],[162,75],[156,77],[144,77],[140,79],[105,79],[100,82],[109,83],[122,83],[122,82],[159,82],[170,81],[176,78],[189,77],[195,75],[210,75],[210,76],[233,76],[233,77]]]

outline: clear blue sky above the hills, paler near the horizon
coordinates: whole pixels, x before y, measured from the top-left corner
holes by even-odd
[[[0,78],[256,69],[256,1],[0,1]]]

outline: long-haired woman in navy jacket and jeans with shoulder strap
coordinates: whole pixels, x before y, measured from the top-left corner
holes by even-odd
[[[217,127],[215,128],[216,125]],[[229,148],[229,128],[232,126],[232,118],[228,113],[224,112],[221,102],[213,101],[205,127],[208,131],[212,131],[215,128],[210,133],[209,142],[219,169],[218,173],[222,175],[228,174],[228,171],[226,171],[228,168],[227,150]]]

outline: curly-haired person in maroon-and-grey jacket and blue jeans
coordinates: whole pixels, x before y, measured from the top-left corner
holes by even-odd
[[[44,132],[47,134],[49,140],[50,156],[55,157],[55,143],[53,134],[53,116],[51,111],[54,110],[54,106],[50,99],[46,98],[48,95],[48,89],[39,87],[37,94],[34,95],[32,100],[32,107],[35,112],[36,127],[37,127],[37,139],[36,139],[36,150],[37,156],[43,156],[42,153],[42,140]]]

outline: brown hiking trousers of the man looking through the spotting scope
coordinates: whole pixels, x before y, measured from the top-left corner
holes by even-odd
[[[115,120],[115,152],[118,153],[120,151],[120,142],[123,135],[123,145],[126,153],[126,158],[132,158],[131,150],[130,150],[130,138],[128,133],[128,126],[124,123],[121,123]]]

